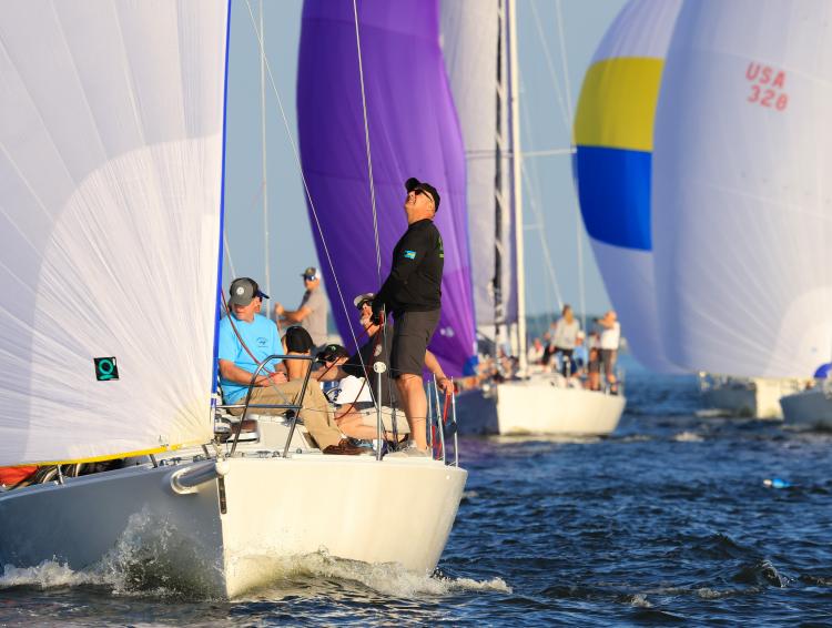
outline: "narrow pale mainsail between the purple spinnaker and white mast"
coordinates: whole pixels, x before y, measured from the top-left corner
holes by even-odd
[[[504,323],[517,321],[517,267],[514,257],[514,214],[510,207],[511,163],[508,159],[508,92],[503,92],[498,121],[499,80],[507,83],[505,18],[499,20],[499,2],[494,0],[443,0],[440,7],[442,48],[454,95],[466,154],[468,237],[471,243],[471,282],[477,326],[494,325],[495,254],[501,251]],[[501,45],[501,54],[498,51]],[[498,74],[498,63],[500,64]],[[499,128],[498,128],[499,122]],[[503,140],[500,140],[503,135]],[[500,183],[497,185],[497,145],[500,145]],[[495,244],[497,189],[504,190],[500,220],[501,240]]]

